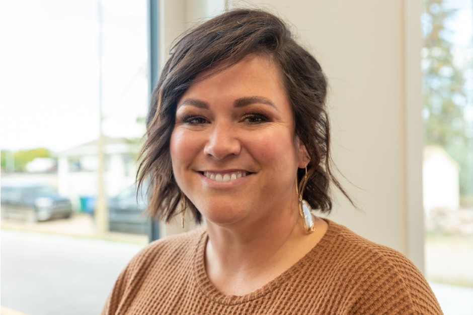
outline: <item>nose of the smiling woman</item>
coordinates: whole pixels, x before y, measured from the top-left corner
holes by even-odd
[[[204,147],[204,154],[222,160],[240,154],[241,143],[231,123],[214,123]]]

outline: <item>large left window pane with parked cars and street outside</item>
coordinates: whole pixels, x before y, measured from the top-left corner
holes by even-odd
[[[147,243],[146,198],[134,186],[147,112],[146,2],[4,0],[0,21],[2,307],[99,313]],[[105,233],[96,220],[101,168]]]

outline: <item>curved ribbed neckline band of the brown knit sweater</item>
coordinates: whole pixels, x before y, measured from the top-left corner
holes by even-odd
[[[207,230],[202,232],[198,240],[194,255],[194,277],[197,287],[209,299],[224,305],[238,305],[261,298],[276,288],[286,283],[291,277],[300,273],[308,263],[320,263],[322,260],[317,255],[321,249],[330,246],[338,234],[338,225],[331,220],[324,219],[328,223],[328,229],[322,239],[312,249],[305,254],[299,261],[293,264],[289,269],[281,273],[279,276],[269,281],[261,288],[245,295],[225,295],[220,292],[210,281],[205,271],[205,247],[208,241]]]

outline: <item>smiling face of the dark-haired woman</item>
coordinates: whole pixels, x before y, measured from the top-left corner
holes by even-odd
[[[250,55],[191,85],[178,100],[171,158],[209,222],[258,222],[294,207],[296,171],[308,161],[273,63]]]

